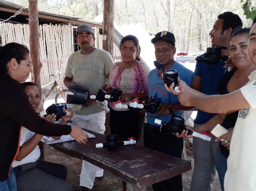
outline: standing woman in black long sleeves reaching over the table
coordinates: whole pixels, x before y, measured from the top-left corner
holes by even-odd
[[[88,135],[77,126],[54,124],[42,119],[30,104],[20,84],[31,68],[29,50],[18,43],[9,43],[0,50],[0,190],[16,190],[12,162],[19,152],[21,126],[47,136],[70,134],[79,143]]]

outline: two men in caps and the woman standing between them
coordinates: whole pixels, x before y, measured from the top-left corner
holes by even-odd
[[[111,92],[112,88],[122,90],[121,101],[127,104],[133,98],[139,98],[144,103],[147,97],[153,96],[161,100],[161,110],[155,114],[145,111],[133,112],[129,109],[116,108],[115,102],[110,102],[110,130],[118,134],[120,140],[135,137],[138,140],[144,126],[144,146],[160,152],[181,158],[183,140],[170,133],[167,128],[160,128],[154,123],[155,119],[165,122],[171,120],[169,106],[175,109],[175,114],[184,116],[186,107],[179,104],[176,95],[168,92],[161,79],[162,71],[149,67],[138,59],[140,46],[138,39],[133,35],[125,36],[120,42],[122,61],[113,63],[108,52],[93,46],[95,37],[93,29],[88,25],[80,25],[76,29],[76,41],[81,50],[73,53],[68,59],[64,83],[68,87],[75,83],[88,87],[91,94],[96,94],[100,88]],[[181,78],[188,84],[192,83],[193,72],[174,61],[175,37],[171,32],[162,31],[151,41],[155,46],[156,60],[163,64],[165,70],[179,71]],[[108,79],[108,80],[107,80]],[[106,83],[107,81],[107,83]],[[104,133],[105,113],[107,102],[90,100],[86,105],[71,105],[75,110],[74,124],[94,132]],[[81,190],[91,190],[93,185],[103,175],[103,170],[83,161],[80,186]],[[182,177],[171,178],[153,185],[154,190],[182,190]]]

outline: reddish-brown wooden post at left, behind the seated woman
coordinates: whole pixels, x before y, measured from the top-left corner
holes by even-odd
[[[37,0],[29,0],[29,9],[28,9],[28,24],[30,31],[30,56],[32,60],[32,66],[34,70],[34,83],[36,83],[39,87],[40,95],[42,95],[41,90],[41,81],[40,81],[40,71],[42,67],[42,63],[40,61],[40,51],[39,51],[39,21],[38,21],[38,7]],[[33,74],[32,74],[33,75]],[[41,108],[39,110],[43,110],[42,104],[40,104]]]

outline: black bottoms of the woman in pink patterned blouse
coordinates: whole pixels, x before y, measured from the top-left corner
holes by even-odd
[[[129,137],[135,137],[138,141],[144,120],[145,114],[130,110],[115,111],[110,108],[110,131],[111,134],[118,134],[119,140],[128,140]]]

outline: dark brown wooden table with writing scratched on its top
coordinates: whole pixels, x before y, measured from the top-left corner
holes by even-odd
[[[105,135],[88,131],[96,138],[86,144],[76,141],[51,146],[70,156],[89,161],[126,181],[127,190],[145,191],[146,186],[191,170],[191,162],[137,145],[119,146],[115,150],[96,148],[105,143]]]

